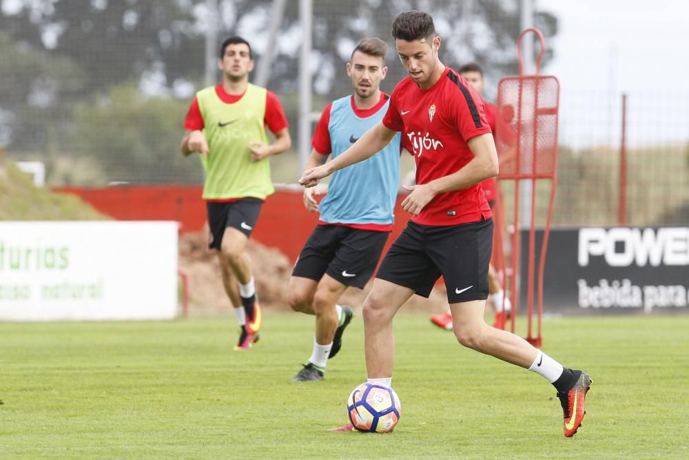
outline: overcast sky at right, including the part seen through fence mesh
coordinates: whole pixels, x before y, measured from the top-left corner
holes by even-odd
[[[535,0],[559,20],[560,139],[615,146],[621,92],[631,146],[689,141],[689,1]]]

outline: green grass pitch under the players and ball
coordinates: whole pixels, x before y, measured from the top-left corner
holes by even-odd
[[[0,323],[0,458],[648,458],[689,455],[689,317],[544,322],[544,350],[594,380],[562,435],[555,390],[400,314],[391,434],[329,432],[365,380],[355,317],[326,380],[292,383],[313,321],[267,312],[234,352],[234,316],[170,322]]]

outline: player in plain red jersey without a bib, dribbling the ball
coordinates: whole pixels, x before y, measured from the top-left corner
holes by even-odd
[[[493,220],[478,183],[494,177],[498,163],[483,100],[438,59],[440,37],[430,14],[398,14],[392,34],[409,77],[395,87],[387,114],[344,153],[306,170],[299,180],[315,186],[371,157],[397,132],[413,147],[417,185],[406,187],[410,193],[402,201],[413,215],[385,254],[363,306],[369,381],[391,385],[393,317],[413,294],[428,297],[442,275],[457,340],[548,379],[562,403],[564,434],[573,436],[584,418],[588,374],[564,368],[521,337],[484,321]]]

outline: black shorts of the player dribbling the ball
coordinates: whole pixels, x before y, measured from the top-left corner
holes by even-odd
[[[429,297],[440,275],[449,303],[488,298],[493,220],[457,226],[409,222],[380,264],[376,278]]]

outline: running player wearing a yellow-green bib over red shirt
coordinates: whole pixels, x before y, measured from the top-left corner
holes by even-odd
[[[209,248],[218,253],[223,285],[240,324],[235,350],[247,350],[258,340],[263,319],[245,248],[263,199],[274,192],[268,157],[289,149],[291,139],[276,95],[249,83],[254,60],[245,39],[223,42],[218,68],[223,83],[196,93],[181,150],[185,156],[198,152],[206,172]],[[268,143],[266,127],[275,136],[273,143]]]

